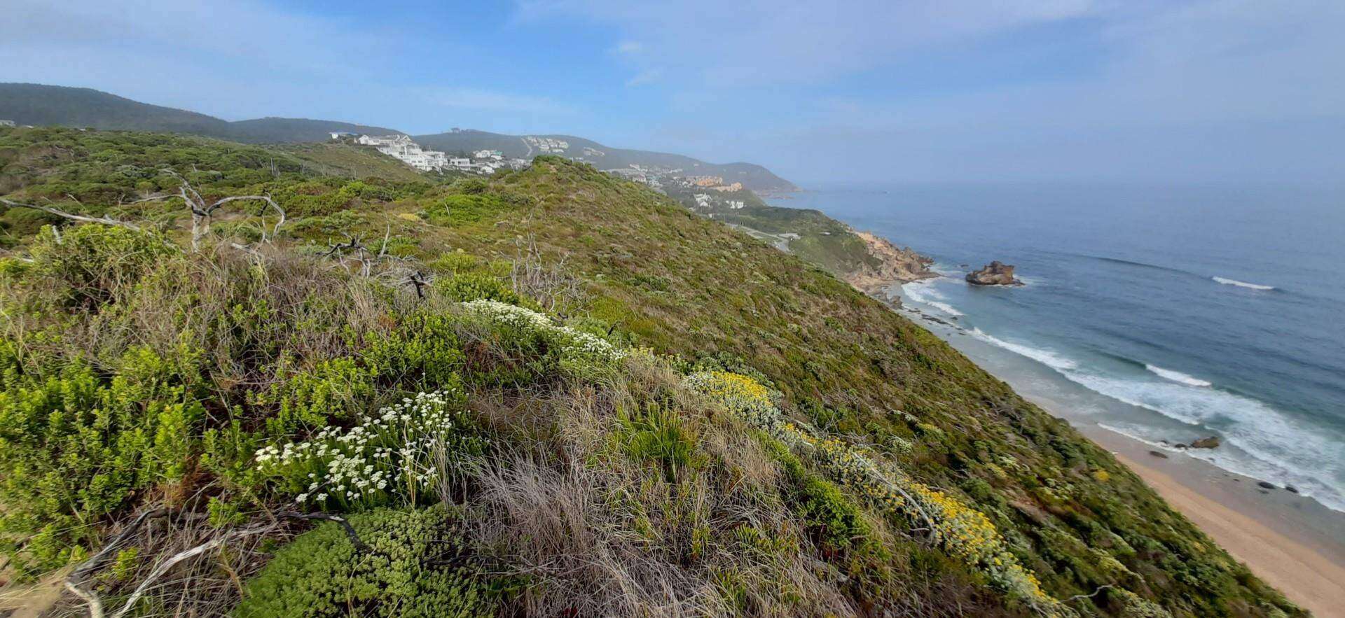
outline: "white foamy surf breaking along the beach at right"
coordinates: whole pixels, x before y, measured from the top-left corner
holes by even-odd
[[[1057,351],[1006,341],[979,329],[972,329],[971,335],[1042,363],[1089,391],[1193,427],[1192,435],[1163,435],[1161,439],[1186,439],[1196,434],[1217,433],[1232,447],[1220,449],[1219,453],[1189,453],[1192,457],[1239,474],[1294,485],[1305,496],[1345,511],[1345,439],[1332,435],[1332,431],[1302,423],[1256,399],[1206,384],[1197,386],[1169,376],[1157,380],[1100,375]],[[1146,364],[1146,368],[1161,375],[1151,365]],[[1204,383],[1185,373],[1171,373]],[[1233,449],[1243,455],[1235,455]]]

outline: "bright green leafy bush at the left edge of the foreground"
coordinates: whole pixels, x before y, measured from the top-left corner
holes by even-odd
[[[78,360],[43,378],[0,345],[0,551],[22,575],[77,558],[89,524],[184,477],[204,416],[184,386],[194,361],[134,348],[110,378]]]

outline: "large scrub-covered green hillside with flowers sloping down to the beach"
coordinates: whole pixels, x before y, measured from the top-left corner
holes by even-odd
[[[301,154],[0,129],[0,196],[38,207],[0,206],[0,598],[69,578],[134,615],[1305,615],[799,257],[562,157],[440,181]],[[155,200],[183,181],[285,222],[253,200],[194,226]]]

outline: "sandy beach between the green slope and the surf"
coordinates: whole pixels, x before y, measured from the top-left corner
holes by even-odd
[[[900,289],[896,285],[893,292]],[[1018,361],[1018,355],[959,337],[966,335],[960,326],[924,310],[908,306],[901,313],[1009,383],[1024,399],[1110,451],[1169,506],[1289,601],[1318,618],[1345,618],[1345,513],[1307,496],[1267,489],[1258,478],[1224,470],[1181,450],[1155,447],[1103,427],[1069,403],[1032,392],[1021,382],[1032,382],[1032,376],[995,371],[995,359],[989,356],[1009,355]],[[1154,450],[1166,457],[1151,455]]]

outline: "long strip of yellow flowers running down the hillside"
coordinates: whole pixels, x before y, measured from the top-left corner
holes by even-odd
[[[916,525],[931,527],[931,535],[948,554],[979,568],[1010,594],[1046,614],[1063,610],[1056,599],[1041,590],[1037,578],[1009,552],[1003,537],[985,513],[901,470],[884,470],[861,450],[839,439],[815,438],[816,431],[810,427],[800,429],[785,421],[771,391],[752,378],[714,371],[691,373],[685,383],[791,447],[811,450],[838,481],[880,509],[905,517]]]

